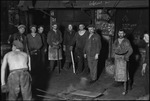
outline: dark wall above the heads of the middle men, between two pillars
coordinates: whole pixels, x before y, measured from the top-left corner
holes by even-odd
[[[74,30],[78,30],[78,25],[83,23],[85,26],[91,23],[90,16],[81,9],[60,9],[56,10],[56,21],[60,25],[60,30],[64,32],[69,23],[74,25]]]

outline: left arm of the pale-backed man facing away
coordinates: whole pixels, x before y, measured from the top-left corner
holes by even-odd
[[[5,74],[6,74],[6,67],[8,63],[7,57],[8,57],[8,54],[4,56],[2,67],[1,67],[1,85],[5,85]]]

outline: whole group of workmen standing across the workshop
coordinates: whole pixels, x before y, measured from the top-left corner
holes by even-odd
[[[65,53],[64,69],[71,67],[71,52],[73,52],[76,74],[80,74],[86,69],[87,60],[87,67],[90,70],[88,80],[95,82],[97,80],[98,59],[102,48],[101,37],[96,33],[94,25],[89,25],[87,28],[88,30],[85,29],[84,24],[79,24],[79,30],[75,32],[73,25],[69,24],[62,37],[57,23],[52,24],[52,29],[47,35],[43,33],[43,26],[38,27],[37,33],[35,25],[30,26],[31,33],[24,35],[25,26],[19,25],[19,32],[9,37],[8,42],[12,43],[12,51],[4,56],[1,67],[1,87],[4,89],[6,88],[6,66],[9,65],[10,74],[7,82],[9,99],[16,99],[19,91],[21,91],[23,99],[30,100],[32,98],[31,77],[38,75],[40,69],[44,68],[46,58],[50,61],[49,71],[54,70],[56,62],[61,66],[63,51]],[[133,50],[129,40],[124,37],[125,32],[123,30],[119,30],[118,36],[119,38],[114,41],[112,47],[112,57],[115,59],[114,78],[117,82],[124,82],[123,94],[126,94],[126,83],[129,79],[127,62]],[[144,40],[147,40],[146,36]],[[148,59],[143,65],[142,73],[145,72],[145,68],[149,68]],[[31,76],[28,71],[31,71]]]

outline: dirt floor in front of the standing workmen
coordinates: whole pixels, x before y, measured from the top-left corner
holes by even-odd
[[[135,100],[144,94],[141,67],[134,75],[132,90],[128,90],[126,95],[122,95],[123,86],[114,87],[114,79],[105,70],[100,74],[98,80],[92,84],[81,84],[81,78],[86,73],[74,74],[72,68],[58,72],[56,68],[53,72],[41,71],[38,79],[34,82],[34,98],[40,100]],[[103,93],[95,98],[70,94],[75,90],[90,91],[92,93]]]

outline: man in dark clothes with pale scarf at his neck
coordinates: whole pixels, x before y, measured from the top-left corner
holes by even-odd
[[[79,31],[75,33],[75,36],[70,45],[70,50],[73,50],[75,45],[75,64],[76,74],[83,72],[84,67],[86,68],[83,49],[85,47],[86,39],[88,38],[89,32],[86,31],[84,24],[79,24]]]

